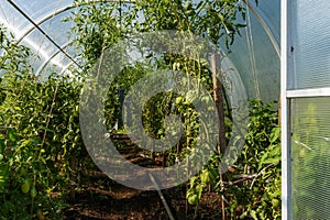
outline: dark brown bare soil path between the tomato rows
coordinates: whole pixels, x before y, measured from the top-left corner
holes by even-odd
[[[121,141],[123,142],[123,141]],[[148,158],[134,145],[127,143],[121,153],[143,166],[162,166],[161,157]],[[166,220],[169,219],[160,195],[155,190],[129,188],[111,180],[102,172],[89,170],[82,177],[85,185],[77,188],[75,201],[64,211],[64,219],[73,220]],[[86,180],[87,179],[87,180]],[[162,190],[175,219],[220,219],[221,198],[205,193],[200,204],[190,206],[186,200],[186,186]]]

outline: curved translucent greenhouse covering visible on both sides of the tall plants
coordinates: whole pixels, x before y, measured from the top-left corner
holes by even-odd
[[[73,47],[74,36],[69,34],[73,23],[63,22],[65,16],[76,10],[73,2],[0,1],[0,23],[37,54],[38,57],[32,61],[36,74],[45,75],[44,70],[51,66],[63,73],[69,66],[77,65],[79,53]],[[223,66],[238,73],[243,82],[240,89],[245,90],[249,98],[272,101],[279,96],[280,0],[260,0],[257,7],[254,0],[250,0],[245,4],[248,26],[242,30],[242,36],[235,37],[232,53]]]

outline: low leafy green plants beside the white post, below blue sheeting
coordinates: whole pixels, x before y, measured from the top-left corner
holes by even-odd
[[[279,136],[274,103],[251,100],[249,132],[241,156],[221,182],[221,157],[215,154],[205,169],[190,178],[188,202],[197,206],[211,186],[227,201],[227,218],[280,219]]]

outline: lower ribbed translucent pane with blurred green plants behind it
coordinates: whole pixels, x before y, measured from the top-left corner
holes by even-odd
[[[292,100],[293,219],[330,219],[330,97]]]

